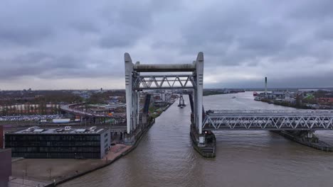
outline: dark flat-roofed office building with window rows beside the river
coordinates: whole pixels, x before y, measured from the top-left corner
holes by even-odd
[[[101,159],[110,148],[110,130],[42,129],[5,133],[5,147],[12,157],[47,159]]]

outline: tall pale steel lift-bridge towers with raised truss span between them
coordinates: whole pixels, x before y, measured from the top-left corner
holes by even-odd
[[[161,74],[164,72],[164,74]],[[165,74],[172,72],[171,74]],[[157,74],[158,73],[158,74]],[[192,64],[140,64],[132,63],[125,53],[126,119],[127,135],[139,125],[139,92],[146,89],[194,89],[194,121],[199,143],[202,134],[203,113],[203,52],[199,52]]]

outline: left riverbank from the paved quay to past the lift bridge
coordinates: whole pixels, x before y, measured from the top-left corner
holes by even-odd
[[[165,108],[162,108],[162,111],[166,111],[171,105],[172,103],[168,104]],[[147,128],[139,132],[133,145],[116,144],[102,159],[21,159],[12,163],[13,178],[20,181],[23,176],[25,180],[36,181],[37,183],[38,181],[47,181],[52,186],[57,186],[97,169],[102,169],[132,152],[154,122],[153,118]]]

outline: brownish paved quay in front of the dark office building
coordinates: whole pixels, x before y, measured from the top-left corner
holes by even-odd
[[[114,145],[103,159],[20,159],[12,163],[9,186],[54,186],[110,165],[131,148]]]

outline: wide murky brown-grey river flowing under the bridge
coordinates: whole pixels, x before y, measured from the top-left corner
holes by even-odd
[[[203,103],[206,110],[293,110],[253,101],[252,92],[205,96]],[[181,109],[174,103],[133,152],[60,186],[333,186],[333,153],[273,132],[215,132],[216,158],[201,157],[190,142],[190,110],[189,105]],[[333,132],[316,134],[333,144]]]

